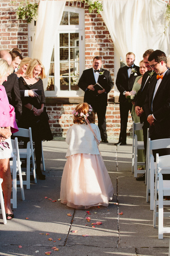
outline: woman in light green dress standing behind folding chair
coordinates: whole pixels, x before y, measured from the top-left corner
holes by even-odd
[[[141,60],[139,62],[139,72],[140,72],[140,76],[136,77],[135,82],[134,82],[134,86],[132,88],[132,90],[136,91],[136,93],[138,93],[140,86],[142,84],[142,78],[144,73],[147,71],[147,68],[143,62],[143,60]],[[134,120],[135,123],[140,123],[140,117],[136,115],[135,112],[135,99],[134,101],[132,101],[132,118]],[[143,141],[143,130],[139,130],[139,131],[135,131],[135,134],[138,137],[138,141]],[[138,150],[138,162],[145,162],[146,161],[146,153],[144,150]],[[143,166],[138,166],[138,170],[143,170]]]

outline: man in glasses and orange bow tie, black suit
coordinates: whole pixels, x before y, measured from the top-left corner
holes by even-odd
[[[152,76],[144,103],[151,140],[170,138],[170,70],[166,55],[160,50],[152,52],[148,61],[157,76]],[[154,150],[159,156],[169,155],[170,149]]]

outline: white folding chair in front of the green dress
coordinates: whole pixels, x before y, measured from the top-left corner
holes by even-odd
[[[144,149],[144,142],[138,141],[135,131],[142,130],[143,123],[133,122],[133,136],[132,136],[132,173],[134,177],[138,177],[138,173],[144,173],[145,170],[138,170],[138,165],[145,166],[145,162],[138,162],[138,150]]]

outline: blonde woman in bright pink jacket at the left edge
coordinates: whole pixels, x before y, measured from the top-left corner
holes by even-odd
[[[0,177],[3,179],[2,189],[7,219],[14,217],[11,210],[12,179],[9,158],[13,157],[11,135],[18,131],[18,127],[15,121],[14,107],[9,104],[2,84],[7,81],[7,77],[12,71],[13,68],[8,65],[7,61],[0,59]]]

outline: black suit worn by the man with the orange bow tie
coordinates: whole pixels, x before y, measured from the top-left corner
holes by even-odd
[[[151,78],[150,86],[148,87],[146,100],[144,103],[144,110],[146,117],[154,115],[154,125],[150,126],[151,140],[158,140],[162,138],[170,138],[170,70],[168,69],[163,76],[161,84],[153,99],[155,86],[157,84],[157,77]],[[153,100],[153,102],[152,102]],[[155,153],[159,155],[169,155],[170,149],[160,149]]]

